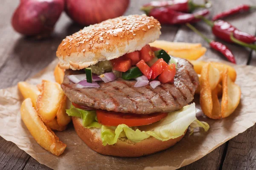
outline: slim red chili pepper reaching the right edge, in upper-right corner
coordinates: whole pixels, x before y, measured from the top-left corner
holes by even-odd
[[[228,16],[231,16],[231,15],[234,15],[234,14],[250,11],[253,8],[256,8],[256,6],[240,5],[240,6],[237,6],[236,8],[232,8],[230,10],[221,12],[221,13],[213,16],[212,20],[215,21],[215,20],[218,20],[218,19],[221,19],[221,18],[224,18],[224,17],[228,17]]]

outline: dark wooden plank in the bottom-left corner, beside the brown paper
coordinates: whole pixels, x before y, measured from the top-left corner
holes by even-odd
[[[0,169],[1,170],[22,170],[29,155],[20,150],[14,143],[8,142],[0,137]]]

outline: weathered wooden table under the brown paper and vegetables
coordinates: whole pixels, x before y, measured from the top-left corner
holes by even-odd
[[[81,26],[73,24],[63,13],[58,21],[52,37],[47,40],[32,40],[17,34],[11,26],[12,12],[19,0],[1,0],[0,6],[0,88],[16,85],[35,73],[45,68],[53,59],[55,51],[61,40],[79,29]],[[128,14],[142,14],[139,7],[149,0],[131,0]],[[194,1],[200,3],[200,0]],[[202,3],[202,0],[201,0]],[[224,9],[244,4],[256,5],[256,0],[212,0],[211,16]],[[256,12],[240,14],[229,17],[227,21],[242,31],[250,34],[256,33]],[[204,23],[197,23],[196,27],[207,37],[214,39],[210,28]],[[186,26],[162,26],[161,40],[175,42],[201,42],[208,48],[207,57],[224,59],[221,54],[212,51],[201,37],[194,34]],[[227,45],[236,55],[238,64],[255,65],[256,53],[239,47]],[[252,87],[253,88],[253,87]],[[249,128],[244,133],[213,150],[204,158],[182,167],[183,170],[253,170],[256,169],[256,126]],[[50,169],[39,164],[35,159],[20,150],[12,142],[7,142],[0,137],[0,169],[4,170],[30,170]]]

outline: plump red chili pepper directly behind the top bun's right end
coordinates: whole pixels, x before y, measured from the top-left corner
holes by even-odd
[[[196,18],[198,16],[205,16],[209,14],[207,9],[195,12],[193,14],[187,14],[183,12],[173,11],[171,9],[160,7],[153,8],[148,15],[156,18],[161,24],[185,24],[185,23],[195,23],[200,19]]]

